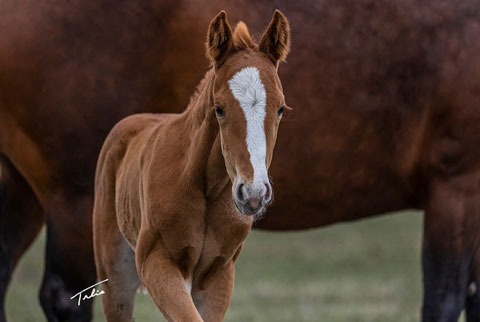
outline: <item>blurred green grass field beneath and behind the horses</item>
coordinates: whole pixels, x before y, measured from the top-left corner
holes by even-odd
[[[225,321],[419,321],[422,218],[403,212],[307,232],[254,231]],[[43,248],[42,233],[10,286],[9,321],[45,320],[37,297]],[[95,321],[104,321],[100,301],[95,311]],[[148,296],[137,295],[137,322],[160,316]]]

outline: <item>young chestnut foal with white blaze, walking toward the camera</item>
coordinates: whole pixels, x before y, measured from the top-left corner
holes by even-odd
[[[108,135],[93,214],[108,321],[132,321],[141,283],[169,321],[223,319],[235,260],[272,200],[267,169],[285,106],[277,67],[289,39],[279,11],[258,45],[220,12],[207,36],[213,68],[187,109],[133,115]]]

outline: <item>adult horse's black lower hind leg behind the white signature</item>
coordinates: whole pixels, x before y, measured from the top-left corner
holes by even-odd
[[[73,195],[73,194],[71,194]],[[83,197],[81,197],[83,196]],[[46,208],[47,250],[40,303],[50,322],[90,321],[92,301],[70,298],[95,284],[92,196],[58,196]]]

